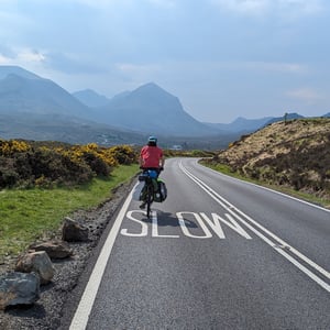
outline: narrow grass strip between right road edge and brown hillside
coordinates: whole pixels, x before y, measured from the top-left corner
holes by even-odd
[[[238,179],[253,183],[255,185],[263,186],[263,187],[266,187],[266,188],[270,188],[270,189],[273,189],[273,190],[276,190],[276,191],[279,191],[279,193],[283,193],[283,194],[286,194],[286,195],[289,195],[289,196],[293,196],[293,197],[296,197],[296,198],[299,198],[299,199],[302,199],[302,200],[306,200],[306,201],[309,201],[309,202],[312,202],[312,204],[316,204],[316,205],[319,205],[319,206],[330,209],[330,200],[329,199],[318,198],[314,195],[297,191],[297,190],[288,188],[288,187],[284,187],[284,186],[279,186],[279,185],[270,185],[270,184],[266,184],[266,183],[263,183],[260,180],[248,178],[245,176],[238,174],[237,172],[232,172],[230,169],[230,166],[228,166],[226,164],[213,165],[213,164],[208,164],[207,162],[202,162],[202,161],[200,163],[207,167],[210,167],[215,170],[221,172],[229,176],[235,177]]]

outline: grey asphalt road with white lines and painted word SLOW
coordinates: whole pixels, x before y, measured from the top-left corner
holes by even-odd
[[[130,195],[70,329],[330,329],[330,212],[168,160],[146,219]]]

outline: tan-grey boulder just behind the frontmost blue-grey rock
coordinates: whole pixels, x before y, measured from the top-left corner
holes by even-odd
[[[22,273],[35,272],[40,276],[41,284],[50,283],[55,273],[51,258],[45,251],[26,253],[19,258],[15,271]]]

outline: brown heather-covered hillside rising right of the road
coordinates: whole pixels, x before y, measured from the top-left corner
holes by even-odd
[[[295,119],[243,135],[211,163],[272,185],[329,199],[330,119]]]

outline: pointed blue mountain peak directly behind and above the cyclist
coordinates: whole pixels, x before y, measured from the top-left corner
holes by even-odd
[[[94,116],[98,121],[150,134],[201,136],[218,132],[189,116],[177,97],[154,82],[114,97]]]

